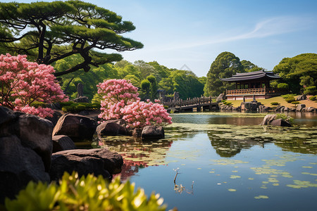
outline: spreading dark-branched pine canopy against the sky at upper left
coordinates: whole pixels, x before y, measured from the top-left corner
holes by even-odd
[[[0,43],[8,53],[27,54],[37,63],[51,65],[68,56],[80,55],[82,62],[56,76],[91,66],[118,61],[118,53],[95,50],[132,51],[143,45],[120,34],[135,30],[130,21],[83,1],[0,3]]]

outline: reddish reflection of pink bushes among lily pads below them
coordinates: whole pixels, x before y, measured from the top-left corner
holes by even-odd
[[[123,167],[120,173],[125,180],[139,172],[139,168],[151,165],[164,165],[166,151],[173,141],[142,141],[131,136],[107,136],[99,139],[99,146],[123,156]]]

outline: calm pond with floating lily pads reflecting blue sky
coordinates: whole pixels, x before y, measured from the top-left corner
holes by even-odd
[[[99,147],[123,155],[121,179],[168,210],[316,209],[317,115],[294,113],[291,128],[259,125],[265,115],[173,114],[166,139],[107,136]]]

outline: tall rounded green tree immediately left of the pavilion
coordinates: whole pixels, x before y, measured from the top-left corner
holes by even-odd
[[[231,89],[232,84],[223,83],[220,78],[232,77],[237,72],[245,72],[240,58],[230,52],[220,53],[211,63],[207,73],[207,81],[204,87],[204,96],[218,96],[226,89]]]

